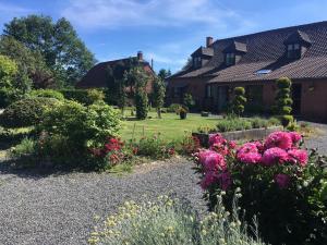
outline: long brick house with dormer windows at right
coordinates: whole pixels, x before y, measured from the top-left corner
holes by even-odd
[[[275,81],[292,79],[293,113],[327,121],[327,22],[214,41],[192,54],[192,65],[168,77],[169,102],[190,93],[202,110],[223,112],[233,87],[246,90],[247,110],[269,111]]]

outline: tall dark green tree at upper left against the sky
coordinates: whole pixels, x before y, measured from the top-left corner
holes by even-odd
[[[49,16],[15,17],[4,25],[4,35],[32,51],[40,52],[56,81],[74,85],[94,64],[93,53],[65,19],[57,23]]]

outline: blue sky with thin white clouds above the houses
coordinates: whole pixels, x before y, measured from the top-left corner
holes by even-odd
[[[0,0],[0,24],[27,14],[64,16],[98,61],[142,50],[155,70],[175,72],[206,36],[325,21],[326,10],[327,0]]]

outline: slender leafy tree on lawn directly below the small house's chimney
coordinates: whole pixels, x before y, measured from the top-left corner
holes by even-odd
[[[135,85],[135,107],[136,107],[136,118],[140,120],[145,120],[147,118],[147,93],[146,93],[146,85],[148,82],[148,75],[146,72],[141,68],[134,68],[133,74],[136,77],[136,85]]]

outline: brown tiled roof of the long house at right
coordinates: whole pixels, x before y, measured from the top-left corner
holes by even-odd
[[[293,38],[308,44],[308,49],[299,60],[289,60],[286,56],[284,44]],[[246,53],[235,65],[226,66],[223,51],[234,44],[242,44],[243,48],[246,47]],[[214,57],[203,68],[190,69],[172,77],[205,76],[211,83],[268,81],[280,76],[327,77],[327,22],[220,39],[213,44],[213,48]],[[259,70],[270,70],[270,72],[256,74]]]

